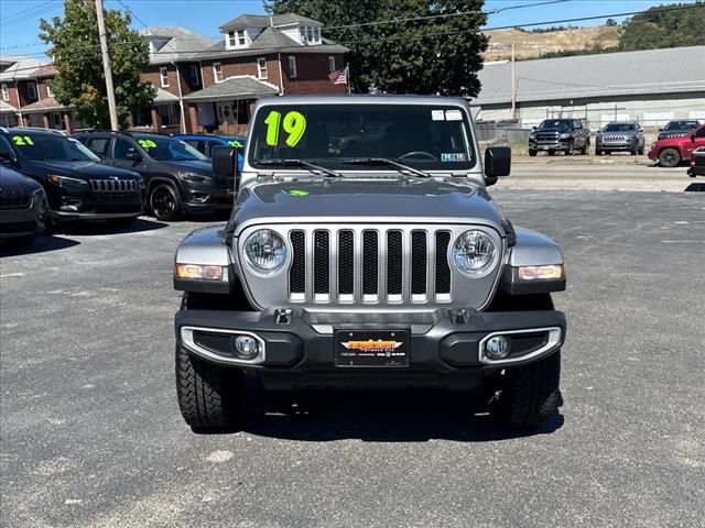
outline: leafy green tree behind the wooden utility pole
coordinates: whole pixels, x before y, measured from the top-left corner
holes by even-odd
[[[154,87],[140,79],[149,64],[149,45],[130,30],[129,13],[107,10],[105,19],[118,120],[127,128],[131,112],[151,105],[156,95]],[[56,100],[73,106],[87,124],[109,128],[95,1],[65,0],[63,19],[40,22],[40,38],[51,46],[47,55],[58,73],[51,81]]]

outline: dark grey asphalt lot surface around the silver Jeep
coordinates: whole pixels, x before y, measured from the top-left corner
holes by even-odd
[[[564,405],[525,437],[413,394],[264,395],[243,431],[194,435],[171,258],[207,221],[2,257],[2,526],[705,526],[704,195],[496,196],[570,279]]]

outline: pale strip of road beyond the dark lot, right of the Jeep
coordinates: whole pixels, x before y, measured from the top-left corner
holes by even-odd
[[[705,178],[690,178],[686,167],[652,167],[629,157],[610,156],[583,163],[574,156],[565,161],[522,160],[512,166],[509,178],[500,180],[502,189],[527,190],[625,190],[683,193],[688,186],[705,187]]]

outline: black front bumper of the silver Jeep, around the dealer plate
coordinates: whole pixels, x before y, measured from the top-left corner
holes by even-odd
[[[419,386],[470,388],[498,370],[532,363],[556,352],[565,339],[563,312],[476,312],[437,309],[423,314],[338,314],[289,310],[261,312],[182,310],[176,314],[176,341],[208,362],[257,372],[267,388],[359,388]],[[409,366],[336,367],[337,330],[406,330]],[[245,332],[264,344],[263,360],[237,360],[228,348],[207,348],[199,336]],[[481,342],[494,333],[524,332],[545,342],[534,343],[522,355],[490,362],[480,352]],[[200,343],[200,344],[198,344]],[[513,352],[512,352],[513,354]]]

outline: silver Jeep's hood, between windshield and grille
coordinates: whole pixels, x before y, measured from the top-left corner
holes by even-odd
[[[503,233],[484,188],[434,179],[317,179],[259,183],[238,196],[238,231],[254,223],[477,223]]]

